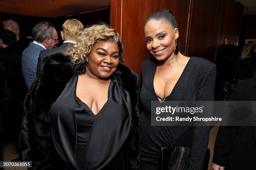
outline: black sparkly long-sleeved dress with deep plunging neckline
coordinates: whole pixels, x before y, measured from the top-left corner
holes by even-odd
[[[142,63],[141,86],[141,170],[159,170],[161,147],[190,147],[189,170],[201,170],[209,140],[205,126],[151,126],[151,101],[158,101],[154,91],[157,61]],[[172,74],[172,72],[170,72]],[[191,57],[166,101],[214,100],[215,65],[203,58]]]

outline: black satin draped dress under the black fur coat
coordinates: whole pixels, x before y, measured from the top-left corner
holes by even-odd
[[[117,81],[121,72],[111,76],[108,100],[94,115],[76,96],[78,75],[85,73],[84,65],[78,70],[81,67],[51,106],[55,149],[69,169],[125,170],[132,107],[129,93]]]

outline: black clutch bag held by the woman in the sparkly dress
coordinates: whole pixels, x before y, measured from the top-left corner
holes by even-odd
[[[160,170],[187,170],[189,147],[161,147]]]

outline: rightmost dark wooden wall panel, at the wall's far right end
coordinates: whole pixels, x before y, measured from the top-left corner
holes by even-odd
[[[218,37],[218,47],[225,44],[238,45],[241,21],[243,17],[243,5],[234,0],[223,0],[223,8]]]

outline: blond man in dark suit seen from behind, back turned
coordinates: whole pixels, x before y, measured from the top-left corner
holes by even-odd
[[[82,31],[83,29],[84,29],[84,25],[79,20],[76,20],[76,19],[66,20],[62,25],[62,31],[61,31],[61,38],[62,40],[64,40],[63,44],[57,48],[42,50],[40,52],[39,58],[38,58],[36,75],[38,76],[39,72],[43,68],[44,58],[46,56],[50,56],[58,52],[61,52],[61,53],[65,52],[65,50],[67,50],[67,47],[76,43],[76,35],[79,31]]]

